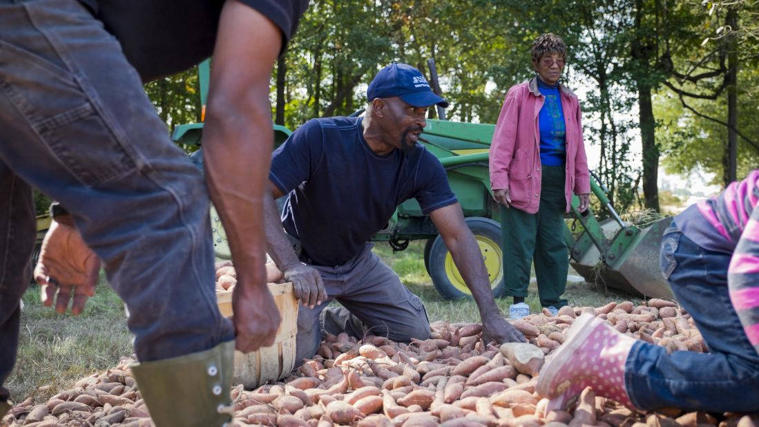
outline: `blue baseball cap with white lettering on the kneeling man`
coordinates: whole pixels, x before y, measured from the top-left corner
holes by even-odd
[[[398,96],[412,106],[426,107],[435,104],[447,108],[448,101],[437,96],[419,70],[396,62],[379,70],[367,89],[367,98]]]

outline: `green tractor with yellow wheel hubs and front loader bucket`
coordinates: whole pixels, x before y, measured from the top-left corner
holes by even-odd
[[[206,104],[209,64],[200,65],[201,105]],[[204,108],[204,107],[203,107]],[[360,113],[360,112],[357,112]],[[420,136],[448,172],[453,192],[464,210],[466,223],[477,239],[490,277],[493,295],[504,296],[505,265],[502,248],[501,209],[493,201],[488,171],[488,151],[495,125],[427,120]],[[172,139],[180,144],[200,144],[203,123],[178,125]],[[292,133],[283,126],[274,126],[274,147],[279,147]],[[603,281],[606,286],[648,297],[672,298],[669,285],[659,274],[658,248],[668,220],[654,223],[647,229],[625,223],[614,211],[606,191],[591,179],[591,188],[613,220],[599,223],[591,210],[579,213],[579,200],[572,201],[570,217],[578,220],[584,231],[575,238],[569,227],[565,242],[570,250],[570,263],[588,282]],[[214,244],[218,258],[230,258],[224,229],[216,211],[211,212]],[[458,273],[453,258],[432,220],[424,215],[416,200],[403,202],[386,226],[373,237],[375,242],[388,242],[395,251],[408,247],[411,240],[425,240],[424,265],[433,285],[446,299],[470,296],[471,292]]]

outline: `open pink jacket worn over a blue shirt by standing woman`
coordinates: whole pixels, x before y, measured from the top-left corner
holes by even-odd
[[[580,103],[572,90],[559,84],[566,124],[567,211],[572,192],[591,192],[587,157],[582,142]],[[537,90],[537,80],[512,86],[490,144],[490,188],[509,188],[512,204],[527,213],[540,206],[540,125],[537,118],[545,97]]]

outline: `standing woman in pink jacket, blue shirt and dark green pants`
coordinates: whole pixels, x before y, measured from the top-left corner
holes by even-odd
[[[559,77],[566,61],[564,41],[552,33],[532,44],[537,75],[509,89],[490,146],[490,185],[503,205],[505,289],[514,298],[512,319],[530,314],[524,303],[535,264],[540,305],[556,314],[569,268],[564,213],[572,193],[587,209],[591,192],[582,142],[580,104]]]

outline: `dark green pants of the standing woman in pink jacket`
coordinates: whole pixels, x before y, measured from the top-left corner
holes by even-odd
[[[501,208],[505,293],[527,296],[531,261],[535,263],[540,305],[560,308],[569,269],[569,253],[564,242],[564,166],[541,166],[540,207],[527,213],[515,207]]]

